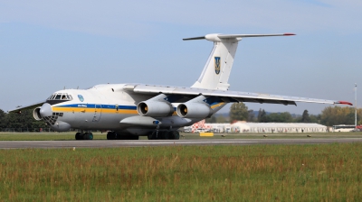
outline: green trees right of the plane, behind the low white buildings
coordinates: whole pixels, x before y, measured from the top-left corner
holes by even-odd
[[[362,124],[362,108],[357,109],[357,124]],[[317,123],[327,126],[337,124],[355,124],[355,107],[327,106],[319,115],[310,115],[304,110],[302,115],[291,115],[289,112],[267,113],[259,109],[258,113],[249,110],[243,103],[234,103],[230,106],[229,119],[213,115],[206,119],[207,123],[233,123],[246,121],[254,123]]]

